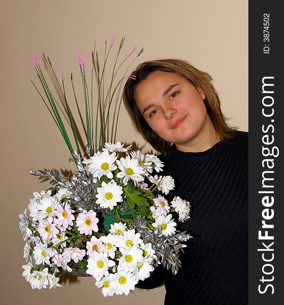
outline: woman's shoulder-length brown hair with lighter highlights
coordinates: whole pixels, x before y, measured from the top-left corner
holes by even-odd
[[[135,130],[143,136],[157,151],[164,153],[171,146],[171,143],[161,139],[148,125],[143,115],[136,106],[134,92],[137,85],[145,80],[154,71],[176,73],[187,79],[195,88],[201,88],[205,93],[204,104],[207,113],[211,118],[217,135],[221,140],[233,137],[236,128],[226,124],[220,100],[215,88],[212,85],[212,77],[203,71],[194,68],[191,64],[182,59],[158,59],[141,63],[125,83],[123,89],[123,101],[128,114],[131,117]]]

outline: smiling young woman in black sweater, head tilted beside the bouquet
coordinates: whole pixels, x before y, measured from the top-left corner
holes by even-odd
[[[175,179],[169,199],[191,203],[182,268],[157,268],[138,287],[163,281],[165,304],[248,303],[248,134],[226,124],[208,73],[180,59],[140,64],[124,87],[134,128]]]

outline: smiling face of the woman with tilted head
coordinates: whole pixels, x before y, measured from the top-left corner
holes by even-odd
[[[203,90],[178,74],[151,73],[136,87],[134,98],[151,129],[180,150],[194,151],[190,147],[200,146],[214,130]]]

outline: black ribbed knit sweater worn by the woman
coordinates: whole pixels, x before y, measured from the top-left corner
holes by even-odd
[[[179,223],[193,238],[181,255],[182,268],[157,268],[137,287],[164,281],[166,305],[245,305],[248,303],[248,133],[236,132],[201,153],[173,145],[163,175],[175,179],[170,198],[190,201],[190,219]]]

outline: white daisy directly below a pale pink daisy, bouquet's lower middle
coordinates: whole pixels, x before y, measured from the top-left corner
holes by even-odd
[[[93,276],[97,281],[100,281],[102,277],[109,275],[108,268],[113,267],[115,264],[114,261],[107,258],[107,253],[94,252],[88,259],[86,273]]]

